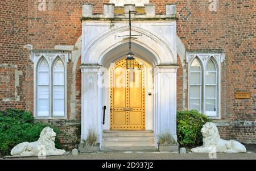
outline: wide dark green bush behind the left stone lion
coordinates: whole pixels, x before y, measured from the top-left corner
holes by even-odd
[[[30,112],[9,109],[0,111],[0,156],[10,155],[11,149],[24,141],[37,141],[40,132],[48,124],[36,122]],[[59,130],[53,128],[58,134]],[[55,140],[56,148],[60,144]]]

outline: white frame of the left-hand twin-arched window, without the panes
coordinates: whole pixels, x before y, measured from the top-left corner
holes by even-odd
[[[38,115],[38,66],[45,59],[49,67],[49,114]],[[53,66],[60,59],[64,65],[64,116],[53,116]],[[30,61],[34,62],[34,116],[38,119],[67,119],[67,62],[69,53],[62,51],[35,51],[30,54]]]

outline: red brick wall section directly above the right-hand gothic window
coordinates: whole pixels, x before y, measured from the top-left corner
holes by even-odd
[[[222,50],[225,44],[224,9],[208,9],[209,1],[177,1],[177,35],[187,51]]]

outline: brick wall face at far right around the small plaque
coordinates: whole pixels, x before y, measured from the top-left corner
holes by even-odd
[[[227,113],[232,120],[256,119],[255,1],[227,1],[226,74]],[[250,91],[250,99],[235,99],[236,91]]]

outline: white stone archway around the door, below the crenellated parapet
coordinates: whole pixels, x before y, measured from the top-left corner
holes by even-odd
[[[118,36],[127,35],[129,27],[123,22],[92,20],[83,22],[82,27],[81,140],[86,139],[89,130],[94,130],[101,142],[102,130],[109,129],[109,126],[101,124],[102,106],[108,105],[108,94],[102,82],[109,85],[109,78],[102,76],[109,72],[111,63],[125,57],[127,40]],[[142,36],[133,39],[132,51],[138,59],[150,65],[151,78],[154,80],[152,119],[151,123],[146,120],[150,123],[147,128],[153,130],[156,136],[162,132],[171,132],[176,139],[176,22],[135,22],[133,34]],[[92,82],[94,86],[89,86]]]

